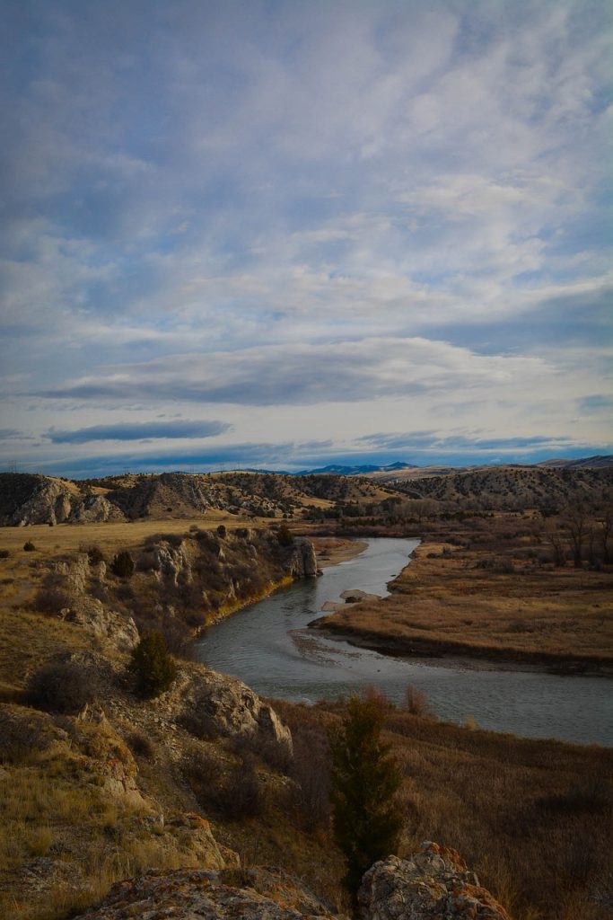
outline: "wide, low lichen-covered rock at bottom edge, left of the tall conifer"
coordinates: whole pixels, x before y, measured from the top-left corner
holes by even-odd
[[[81,917],[123,920],[138,914],[152,920],[171,916],[186,920],[301,920],[308,916],[310,920],[331,920],[335,916],[300,881],[290,881],[285,873],[279,884],[277,878],[270,871],[255,880],[240,870],[153,870],[139,879],[119,881],[99,907]]]

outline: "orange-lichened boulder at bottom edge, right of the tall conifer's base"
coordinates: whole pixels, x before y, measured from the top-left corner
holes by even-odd
[[[459,853],[430,842],[410,859],[375,863],[358,903],[362,920],[510,920]]]

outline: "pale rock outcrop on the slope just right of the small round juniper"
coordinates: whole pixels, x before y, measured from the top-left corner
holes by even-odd
[[[181,668],[173,687],[153,701],[196,735],[252,736],[291,750],[291,732],[242,681],[202,664]]]

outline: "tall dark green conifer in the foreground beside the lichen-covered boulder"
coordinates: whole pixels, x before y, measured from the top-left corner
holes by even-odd
[[[382,727],[380,699],[352,696],[340,729],[330,735],[334,834],[354,908],[362,876],[397,849],[403,826],[396,800],[402,776],[380,741]]]

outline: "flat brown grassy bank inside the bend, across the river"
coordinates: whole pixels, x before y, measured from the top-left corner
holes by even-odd
[[[447,536],[414,550],[390,597],[312,628],[396,656],[613,676],[610,570],[540,565],[539,536],[516,517],[454,524]]]

